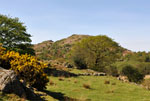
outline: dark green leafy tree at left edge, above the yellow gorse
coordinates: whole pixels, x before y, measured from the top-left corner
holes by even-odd
[[[26,26],[18,18],[0,15],[0,43],[7,50],[34,54],[30,37],[31,35],[26,32]]]

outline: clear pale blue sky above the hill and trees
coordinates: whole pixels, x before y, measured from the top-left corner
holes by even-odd
[[[72,34],[105,34],[132,51],[150,51],[150,0],[0,0],[19,17],[32,43]]]

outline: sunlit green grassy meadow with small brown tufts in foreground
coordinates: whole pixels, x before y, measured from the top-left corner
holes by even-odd
[[[61,97],[64,96],[87,101],[150,100],[149,91],[135,84],[123,83],[114,77],[80,76],[64,78],[63,81],[60,81],[59,77],[50,77],[50,80],[56,85],[48,85],[47,91],[55,100],[62,100]],[[104,84],[106,80],[110,81],[110,84]],[[116,85],[112,85],[112,83]],[[91,89],[85,89],[83,84],[90,85]]]

